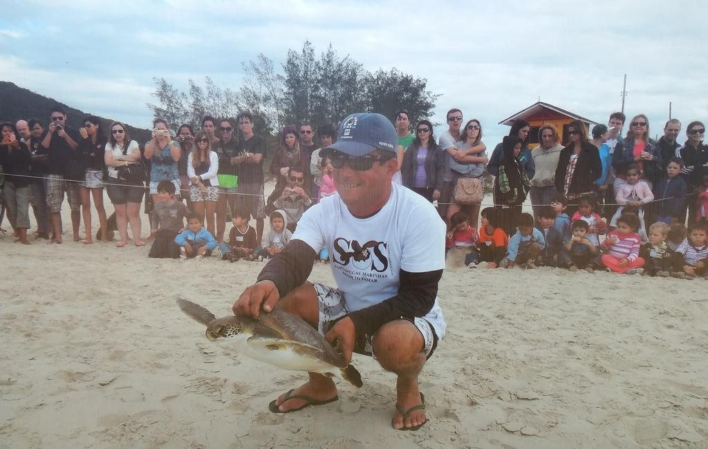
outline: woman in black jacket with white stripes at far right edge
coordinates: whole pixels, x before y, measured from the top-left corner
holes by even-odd
[[[683,175],[687,184],[688,222],[696,220],[698,202],[696,194],[703,184],[703,175],[708,175],[708,146],[703,143],[706,127],[703,122],[690,122],[686,127],[687,140],[676,150],[676,157],[683,160]],[[685,206],[683,216],[685,217]],[[682,221],[683,222],[683,221]]]

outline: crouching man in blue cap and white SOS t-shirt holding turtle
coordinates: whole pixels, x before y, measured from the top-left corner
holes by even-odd
[[[398,376],[392,426],[414,430],[426,422],[418,374],[445,334],[437,299],[445,223],[426,199],[392,183],[396,132],[386,117],[346,117],[323,151],[338,193],[302,215],[290,245],[241,293],[234,313],[258,317],[261,307],[282,307],[337,342],[347,361],[353,351],[375,356]],[[307,282],[324,246],[338,288]],[[269,409],[295,412],[337,399],[331,378],[309,373],[308,383]]]

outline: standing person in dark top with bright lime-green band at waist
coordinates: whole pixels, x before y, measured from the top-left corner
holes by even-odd
[[[231,208],[232,214],[236,211],[236,191],[239,182],[239,166],[236,163],[239,156],[239,139],[234,139],[235,129],[231,119],[222,119],[219,124],[221,139],[212,146],[219,158],[219,198],[216,208],[217,232],[214,233],[213,229],[209,231],[216,237],[217,242],[224,240],[227,204]]]

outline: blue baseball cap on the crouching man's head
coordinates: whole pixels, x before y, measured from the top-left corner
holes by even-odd
[[[326,149],[357,157],[375,150],[396,154],[397,143],[396,129],[389,119],[374,112],[361,112],[343,120],[337,141]]]

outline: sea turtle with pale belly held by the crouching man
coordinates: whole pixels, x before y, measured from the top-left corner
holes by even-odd
[[[361,375],[302,318],[281,308],[261,312],[258,320],[230,315],[217,318],[201,305],[178,299],[184,313],[207,327],[210,341],[236,343],[242,354],[285,370],[337,375],[361,387]],[[223,339],[223,340],[221,340]]]

